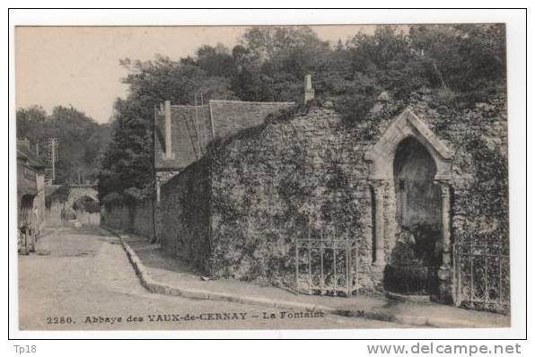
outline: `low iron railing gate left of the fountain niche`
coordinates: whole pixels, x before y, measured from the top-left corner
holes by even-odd
[[[297,292],[351,297],[358,292],[356,239],[319,238],[295,240]]]

